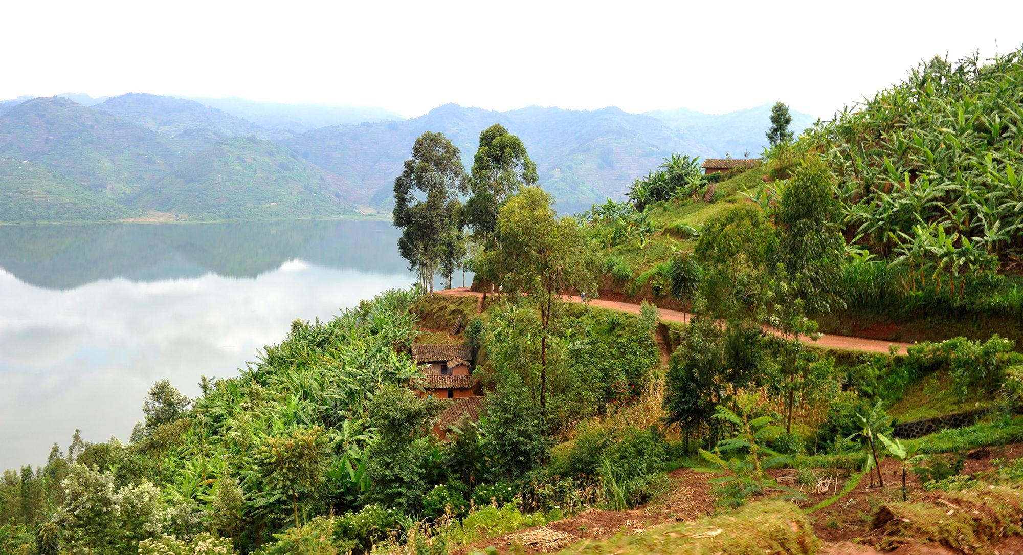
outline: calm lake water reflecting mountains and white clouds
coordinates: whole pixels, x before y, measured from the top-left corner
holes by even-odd
[[[0,226],[0,469],[75,428],[127,441],[157,380],[195,396],[295,318],[408,287],[397,239],[383,221]]]

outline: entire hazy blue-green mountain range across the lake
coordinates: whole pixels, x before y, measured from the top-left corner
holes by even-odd
[[[343,217],[387,211],[424,131],[466,168],[493,123],[522,137],[565,212],[619,198],[672,152],[757,156],[770,106],[708,115],[444,104],[412,119],[375,108],[129,93],[0,101],[0,222]],[[813,123],[793,113],[793,129]]]

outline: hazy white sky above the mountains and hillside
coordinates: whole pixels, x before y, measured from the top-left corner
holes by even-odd
[[[124,92],[815,116],[1023,44],[1023,1],[9,2],[0,98]]]

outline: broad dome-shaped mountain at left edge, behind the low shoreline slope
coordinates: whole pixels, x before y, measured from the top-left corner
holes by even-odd
[[[0,156],[45,164],[114,198],[166,174],[175,154],[163,138],[66,98],[35,98],[0,116]]]

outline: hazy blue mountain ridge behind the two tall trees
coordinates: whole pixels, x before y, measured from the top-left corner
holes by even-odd
[[[381,205],[401,173],[412,142],[424,131],[440,131],[472,165],[480,131],[500,123],[519,135],[536,162],[540,183],[563,211],[621,196],[647,169],[671,152],[712,154],[702,143],[655,118],[610,108],[574,111],[531,106],[493,112],[444,104],[402,122],[364,123],[317,129],[284,141],[313,164],[359,184]]]

